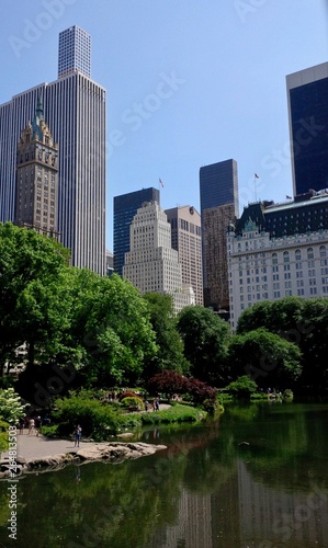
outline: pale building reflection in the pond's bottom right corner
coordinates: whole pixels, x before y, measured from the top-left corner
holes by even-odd
[[[240,537],[245,546],[328,546],[327,496],[286,492],[256,481],[237,461]],[[272,544],[269,544],[272,543]]]

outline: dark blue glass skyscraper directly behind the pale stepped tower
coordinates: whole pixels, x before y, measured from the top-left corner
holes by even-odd
[[[145,202],[159,204],[159,190],[142,189],[114,197],[114,272],[122,276],[124,255],[129,251],[129,225]]]

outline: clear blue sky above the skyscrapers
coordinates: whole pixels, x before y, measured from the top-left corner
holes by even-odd
[[[1,0],[0,103],[57,78],[58,33],[92,36],[108,90],[113,196],[159,187],[200,208],[199,170],[234,158],[240,213],[292,193],[285,76],[328,60],[327,0]],[[255,194],[253,174],[257,181]]]

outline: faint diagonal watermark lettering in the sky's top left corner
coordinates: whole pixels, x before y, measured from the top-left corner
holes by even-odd
[[[20,58],[22,50],[29,49],[33,44],[39,41],[43,33],[52,28],[54,21],[60,19],[68,5],[77,3],[78,0],[43,0],[44,8],[34,21],[24,19],[24,28],[21,36],[11,34],[8,42],[14,55]]]

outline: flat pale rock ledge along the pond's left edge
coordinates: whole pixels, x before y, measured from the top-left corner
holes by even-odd
[[[105,460],[109,463],[122,463],[128,459],[135,459],[154,455],[158,450],[166,449],[166,445],[151,445],[142,442],[104,442],[88,444],[87,447],[78,448],[73,452],[58,455],[49,455],[37,458],[18,458],[15,476],[25,472],[39,472],[63,468],[68,464],[84,464],[95,460]],[[2,460],[0,464],[0,479],[12,477],[12,469],[9,463]]]

